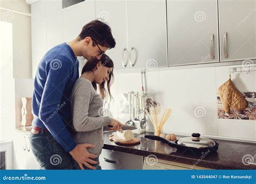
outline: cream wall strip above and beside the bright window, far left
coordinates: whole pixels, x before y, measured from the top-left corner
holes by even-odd
[[[30,5],[26,4],[25,0],[0,1],[0,20],[12,24],[13,77],[30,79],[32,76]]]

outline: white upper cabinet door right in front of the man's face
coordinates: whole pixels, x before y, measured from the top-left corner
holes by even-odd
[[[114,62],[114,69],[128,69],[128,38],[126,22],[126,1],[96,0],[96,18],[110,25],[116,47],[106,52]]]

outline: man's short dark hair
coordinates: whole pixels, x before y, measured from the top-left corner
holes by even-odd
[[[90,23],[84,25],[78,37],[80,37],[80,40],[91,37],[93,46],[96,45],[95,41],[97,44],[109,49],[116,46],[110,26],[100,20],[92,20]]]

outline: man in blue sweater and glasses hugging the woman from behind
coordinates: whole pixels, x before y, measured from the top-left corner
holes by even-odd
[[[40,61],[32,98],[35,117],[30,142],[42,169],[72,169],[73,159],[91,169],[90,164],[97,164],[93,159],[98,155],[87,151],[94,145],[76,144],[72,138],[70,95],[79,76],[77,56],[99,59],[115,45],[110,27],[93,20],[77,38],[51,48]]]

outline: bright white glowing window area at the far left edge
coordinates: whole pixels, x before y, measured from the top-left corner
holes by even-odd
[[[12,78],[12,24],[0,21],[0,140],[14,130],[15,93]]]

